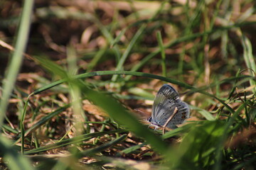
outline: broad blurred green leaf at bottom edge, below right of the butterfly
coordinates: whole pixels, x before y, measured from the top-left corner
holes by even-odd
[[[206,169],[214,163],[216,142],[223,136],[224,127],[225,122],[220,120],[193,126],[179,146],[171,147],[167,164],[172,169]]]

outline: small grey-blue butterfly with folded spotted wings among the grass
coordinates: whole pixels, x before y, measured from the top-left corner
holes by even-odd
[[[159,127],[174,129],[177,128],[176,125],[182,124],[189,118],[189,115],[188,104],[181,101],[173,86],[164,84],[154,98],[152,114],[148,121],[155,129]]]

